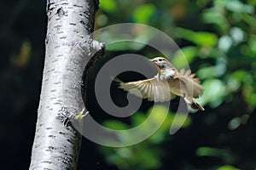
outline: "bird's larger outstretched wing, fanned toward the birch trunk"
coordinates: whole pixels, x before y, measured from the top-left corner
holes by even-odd
[[[168,82],[159,81],[156,77],[137,82],[122,82],[117,78],[114,81],[119,82],[119,88],[148,101],[164,102],[176,97],[170,93]]]

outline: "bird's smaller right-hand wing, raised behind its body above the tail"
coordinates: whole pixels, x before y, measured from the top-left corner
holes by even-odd
[[[199,78],[195,77],[195,73],[191,74],[190,70],[180,70],[173,79],[179,80],[189,97],[198,98],[203,94],[204,88],[200,85]]]

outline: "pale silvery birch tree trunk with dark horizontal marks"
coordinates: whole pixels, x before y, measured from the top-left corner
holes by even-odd
[[[30,169],[76,169],[81,134],[64,122],[84,108],[84,67],[102,43],[94,42],[98,0],[48,0],[44,76]]]

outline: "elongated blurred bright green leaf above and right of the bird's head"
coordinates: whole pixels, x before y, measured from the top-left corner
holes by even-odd
[[[218,42],[218,37],[211,32],[191,31],[184,28],[176,28],[176,35],[177,37],[181,37],[203,47],[212,47]]]

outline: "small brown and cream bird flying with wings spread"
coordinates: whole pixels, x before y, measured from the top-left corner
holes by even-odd
[[[191,74],[190,70],[185,69],[177,71],[172,63],[163,57],[155,57],[149,60],[157,68],[156,76],[136,82],[123,82],[116,77],[114,81],[119,83],[119,88],[137,97],[154,102],[166,102],[180,96],[192,110],[205,111],[195,100],[204,91],[200,84],[201,81],[195,77],[195,73]]]

